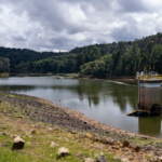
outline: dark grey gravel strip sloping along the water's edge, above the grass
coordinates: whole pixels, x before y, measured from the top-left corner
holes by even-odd
[[[123,137],[130,136],[158,139],[157,137],[130,133],[118,127],[103,124],[94,119],[86,117],[82,112],[64,108],[44,98],[10,92],[0,92],[0,103],[4,103],[4,105],[6,102],[8,104],[13,105],[11,109],[6,108],[1,110],[1,112],[5,114],[16,114],[18,112],[19,114],[30,118],[33,121],[58,124],[60,126],[79,131],[103,133],[104,135],[120,134]],[[52,118],[55,120],[52,120]]]

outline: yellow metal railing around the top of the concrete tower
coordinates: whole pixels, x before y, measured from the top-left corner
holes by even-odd
[[[135,79],[137,79],[137,75]],[[139,80],[162,80],[162,75],[139,75]]]

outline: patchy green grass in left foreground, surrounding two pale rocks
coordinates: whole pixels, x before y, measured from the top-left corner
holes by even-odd
[[[96,154],[100,154],[100,150],[96,149],[89,138],[80,138],[78,143],[76,134],[67,132],[65,129],[58,127],[59,131],[49,132],[50,124],[37,123],[40,129],[33,129],[36,124],[27,119],[17,119],[14,117],[3,117],[0,113],[3,130],[0,132],[6,135],[0,135],[0,162],[81,162],[84,158],[96,159]],[[54,126],[54,125],[53,125]],[[31,132],[35,130],[35,134]],[[12,150],[14,135],[21,134],[25,140],[25,147],[22,150]],[[58,144],[58,147],[51,148],[51,143]],[[57,151],[60,147],[69,149],[70,156],[57,159]],[[77,158],[76,153],[81,152],[82,158]],[[109,161],[113,161],[113,154],[108,153],[106,147],[103,148],[105,157]]]

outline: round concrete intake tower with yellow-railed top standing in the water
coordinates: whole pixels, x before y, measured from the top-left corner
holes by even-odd
[[[138,106],[137,113],[160,114],[162,76],[153,71],[137,72]]]

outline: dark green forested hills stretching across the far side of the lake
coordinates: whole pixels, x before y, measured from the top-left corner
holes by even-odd
[[[0,68],[11,73],[80,72],[81,76],[134,76],[146,65],[162,73],[162,33],[112,43],[75,48],[67,53],[0,48]],[[8,64],[9,65],[9,64]],[[6,68],[9,71],[9,68]],[[4,68],[3,68],[4,70]],[[1,71],[3,71],[1,70]]]

